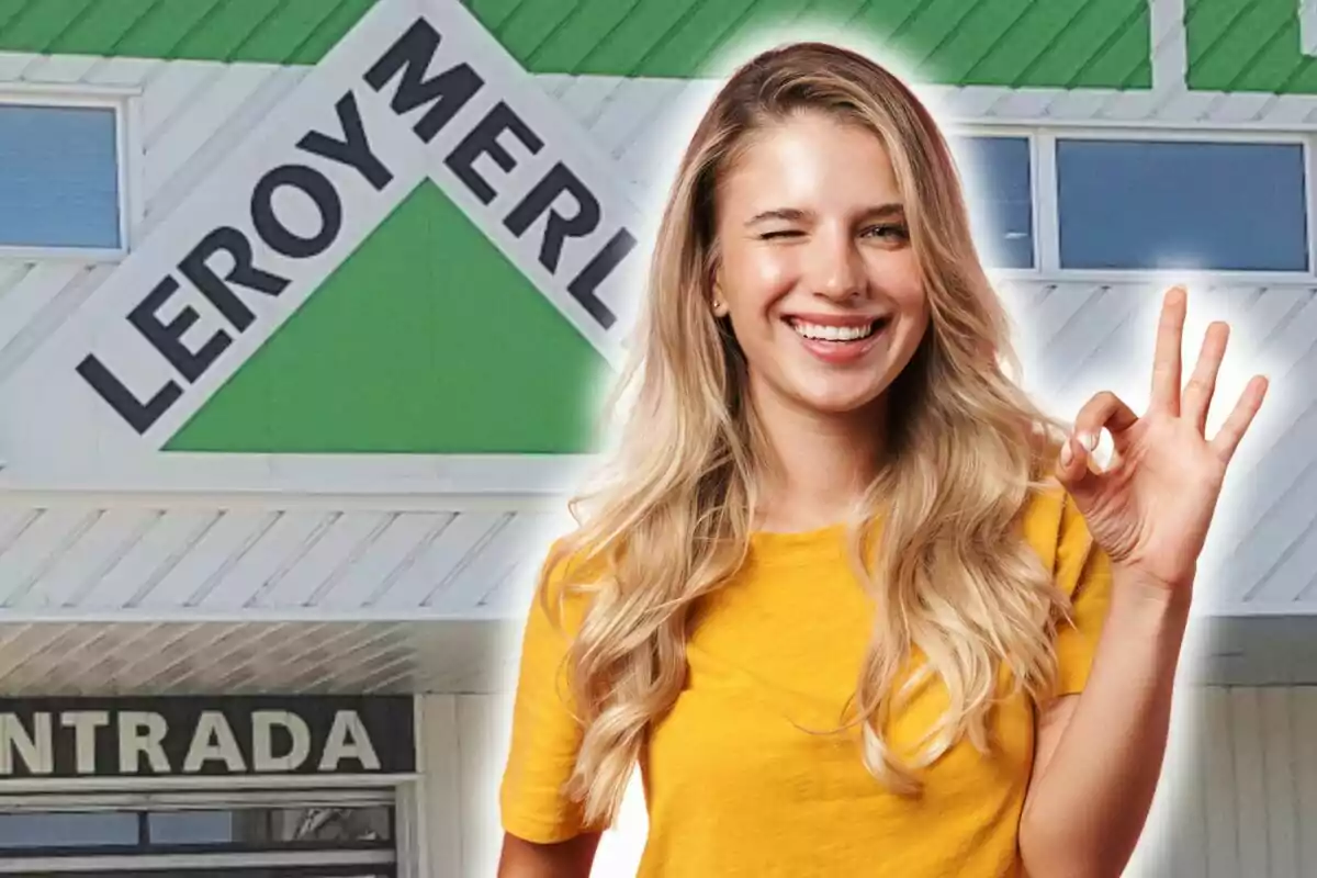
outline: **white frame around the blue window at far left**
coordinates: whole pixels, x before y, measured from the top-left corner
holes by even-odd
[[[0,259],[121,262],[132,250],[141,224],[140,192],[141,90],[112,86],[75,84],[67,87],[5,83],[0,87],[0,107],[53,107],[109,109],[115,113],[115,174],[119,212],[117,247],[58,247],[49,245],[0,244]]]

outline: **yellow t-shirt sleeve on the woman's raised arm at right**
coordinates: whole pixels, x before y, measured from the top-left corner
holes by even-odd
[[[1056,586],[1071,599],[1071,619],[1056,631],[1058,695],[1084,691],[1112,596],[1112,563],[1089,533],[1084,516],[1064,495],[1052,566]]]

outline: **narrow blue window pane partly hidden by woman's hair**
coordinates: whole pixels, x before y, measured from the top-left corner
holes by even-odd
[[[957,137],[951,143],[964,170],[969,219],[985,263],[1034,267],[1034,192],[1029,140]]]

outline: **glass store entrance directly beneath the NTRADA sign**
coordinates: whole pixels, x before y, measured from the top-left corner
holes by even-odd
[[[394,790],[0,798],[0,875],[395,878]]]

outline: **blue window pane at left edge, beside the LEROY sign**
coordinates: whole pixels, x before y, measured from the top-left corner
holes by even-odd
[[[0,246],[119,240],[115,111],[0,104]]]

